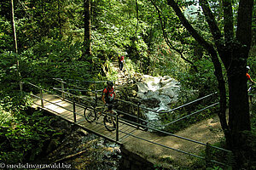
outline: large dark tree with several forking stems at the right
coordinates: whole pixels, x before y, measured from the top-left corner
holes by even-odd
[[[214,1],[215,3],[218,3]],[[218,79],[218,89],[220,96],[220,111],[218,113],[221,126],[224,130],[226,144],[233,150],[237,158],[241,158],[241,150],[245,146],[245,131],[250,131],[249,106],[247,98],[246,66],[248,52],[252,39],[252,13],[253,0],[241,0],[239,2],[237,24],[234,24],[232,2],[223,0],[223,28],[218,26],[210,3],[213,1],[199,0],[203,14],[207,20],[207,25],[212,34],[213,42],[208,42],[189,23],[178,4],[174,0],[167,0],[167,4],[173,8],[183,26],[189,31],[211,55],[215,68],[215,76]],[[236,31],[236,32],[235,32]],[[219,60],[221,59],[221,60]],[[226,121],[226,89],[224,83],[224,73],[221,62],[224,65],[228,77],[229,89],[229,122]],[[238,160],[237,166],[241,164]]]

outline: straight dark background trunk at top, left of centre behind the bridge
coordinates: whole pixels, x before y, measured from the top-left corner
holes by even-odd
[[[91,55],[90,0],[84,0],[84,57]]]

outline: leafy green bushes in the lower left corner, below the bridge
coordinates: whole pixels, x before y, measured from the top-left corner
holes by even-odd
[[[42,152],[44,142],[55,133],[49,127],[51,117],[43,116],[39,111],[28,114],[26,108],[29,101],[25,94],[5,96],[0,100],[2,162],[17,163],[24,159],[33,161],[34,156]]]

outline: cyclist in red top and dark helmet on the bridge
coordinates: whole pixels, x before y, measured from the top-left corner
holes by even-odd
[[[107,88],[104,88],[103,90],[102,101],[105,105],[108,104],[108,111],[111,113],[113,113],[112,107],[113,107],[114,99],[115,99],[115,92],[113,89],[113,82],[108,81]]]

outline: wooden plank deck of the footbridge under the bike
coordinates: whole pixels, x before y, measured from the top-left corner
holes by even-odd
[[[73,122],[79,127],[82,127],[92,133],[96,133],[106,139],[116,141],[116,131],[109,132],[103,124],[103,116],[100,116],[99,120],[96,122],[87,122],[84,119],[84,107],[76,105],[76,122],[73,119],[73,103],[68,100],[61,100],[59,97],[52,94],[44,94],[44,107],[41,107],[41,99],[35,99],[32,108],[41,108],[44,111],[49,111],[50,113],[61,116],[68,122]],[[129,126],[123,122],[119,122],[119,144],[122,144],[125,139],[137,131],[136,127]]]

